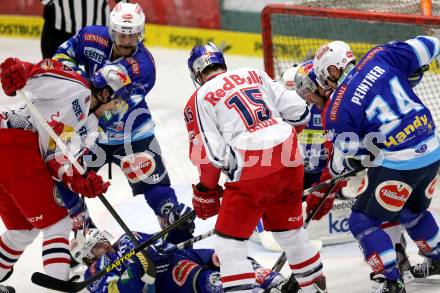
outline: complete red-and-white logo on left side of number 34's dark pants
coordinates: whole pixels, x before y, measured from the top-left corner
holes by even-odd
[[[405,182],[388,180],[376,187],[377,202],[391,212],[400,211],[412,192]]]

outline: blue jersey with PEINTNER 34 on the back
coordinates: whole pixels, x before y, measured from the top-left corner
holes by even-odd
[[[373,147],[375,162],[390,169],[418,169],[439,160],[434,120],[408,82],[439,50],[440,41],[427,36],[370,50],[344,73],[331,97],[325,124],[332,139],[350,137],[343,144],[350,155],[365,154],[373,141],[380,150]],[[336,143],[335,151],[341,145]],[[372,151],[371,145],[367,148]]]

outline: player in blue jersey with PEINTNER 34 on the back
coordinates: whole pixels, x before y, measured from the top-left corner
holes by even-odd
[[[324,124],[340,146],[335,152],[347,154],[341,155],[341,172],[359,166],[356,158],[365,165],[374,156],[377,166],[368,169],[349,218],[350,231],[380,282],[374,292],[405,292],[391,239],[380,227],[384,221],[400,221],[426,256],[426,263],[411,269],[414,276],[440,273],[440,233],[427,211],[440,142],[431,113],[409,79],[437,57],[439,48],[437,38],[419,36],[377,46],[355,65],[349,46],[335,41],[321,46],[313,61],[320,84],[334,89]]]

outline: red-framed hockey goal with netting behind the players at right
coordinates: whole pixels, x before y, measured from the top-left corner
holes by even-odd
[[[304,2],[303,5],[309,6],[272,4],[266,6],[262,12],[264,64],[272,78],[279,79],[282,72],[294,63],[312,59],[323,43],[332,40],[342,40],[350,44],[359,60],[373,46],[392,40],[407,40],[417,35],[440,37],[440,17],[422,16],[416,9],[420,6],[409,5],[410,2],[419,5],[420,1],[380,1],[395,6],[380,5],[377,0],[364,0],[363,4],[360,4],[361,1],[335,0]],[[372,2],[376,2],[377,6],[372,5]],[[353,5],[350,6],[350,3]],[[406,6],[401,3],[406,3]],[[329,6],[333,8],[328,8]],[[339,9],[347,7],[352,10]],[[360,10],[373,10],[374,7],[383,7],[384,10],[388,7],[388,11],[397,10],[400,13]],[[437,8],[433,7],[433,14],[437,11],[434,9]],[[431,63],[429,71],[424,74],[415,91],[431,110],[437,127],[440,127],[438,61]]]

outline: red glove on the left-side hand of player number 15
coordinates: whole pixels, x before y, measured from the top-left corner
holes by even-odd
[[[220,185],[209,190],[201,183],[193,184],[193,207],[197,217],[206,220],[217,215],[222,194],[223,188]]]

